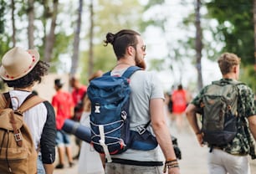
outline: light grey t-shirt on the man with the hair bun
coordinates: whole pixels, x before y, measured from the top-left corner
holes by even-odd
[[[121,75],[125,69],[112,71],[111,75]],[[161,82],[152,72],[138,70],[131,75],[131,99],[129,112],[131,115],[131,130],[136,130],[139,125],[146,125],[150,120],[149,103],[151,99],[163,99],[164,94],[161,88]],[[152,133],[151,125],[147,128]],[[154,133],[153,133],[154,134]],[[163,161],[163,155],[160,146],[151,151],[137,151],[128,149],[122,154],[112,157],[136,160],[136,161]]]

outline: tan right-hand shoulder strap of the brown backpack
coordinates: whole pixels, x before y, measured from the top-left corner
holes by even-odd
[[[30,108],[32,108],[35,105],[38,105],[39,103],[42,103],[44,101],[44,99],[38,97],[38,95],[28,95],[28,97],[26,98],[26,100],[23,101],[23,104],[21,106],[19,106],[18,111],[20,113],[23,113],[26,110],[29,110]]]

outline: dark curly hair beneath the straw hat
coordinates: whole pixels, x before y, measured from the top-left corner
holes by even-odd
[[[25,76],[20,79],[4,80],[8,87],[13,88],[26,88],[31,86],[34,82],[41,83],[42,77],[48,73],[49,64],[39,60],[38,64]]]

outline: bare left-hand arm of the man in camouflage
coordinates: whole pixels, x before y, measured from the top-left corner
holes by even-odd
[[[197,112],[196,112],[196,106],[189,104],[186,109],[186,115],[187,115],[187,120],[189,124],[192,126],[192,130],[194,130],[196,136],[197,136],[197,141],[199,142],[200,146],[203,146],[203,141],[202,141],[202,133],[200,132],[200,128],[197,124]]]

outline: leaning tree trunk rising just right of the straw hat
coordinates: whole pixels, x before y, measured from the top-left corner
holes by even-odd
[[[54,49],[54,41],[55,41],[55,28],[56,28],[56,19],[58,13],[58,5],[59,0],[54,0],[54,10],[51,18],[51,26],[49,34],[46,36],[45,48],[44,48],[44,61],[49,63],[52,59],[53,49]]]

